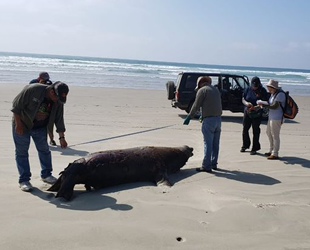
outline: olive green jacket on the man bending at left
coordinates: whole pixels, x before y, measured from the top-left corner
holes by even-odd
[[[50,88],[50,86],[40,83],[26,85],[24,89],[14,98],[11,111],[20,115],[24,124],[24,129],[27,131],[33,128],[33,121],[36,113],[38,112],[44,98],[47,96],[47,91]],[[57,133],[66,131],[63,114],[64,105],[59,101],[53,103],[47,125],[48,131],[53,131],[54,124],[56,125]],[[13,124],[15,124],[14,117]]]

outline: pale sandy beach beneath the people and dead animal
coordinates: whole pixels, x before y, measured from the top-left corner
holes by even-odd
[[[51,147],[54,176],[101,150],[188,145],[194,156],[170,176],[171,188],[143,182],[86,192],[77,185],[65,202],[40,180],[33,143],[35,188],[18,187],[10,109],[22,88],[0,85],[1,250],[310,249],[309,97],[293,96],[300,111],[282,126],[279,161],[264,156],[266,122],[259,154],[240,153],[242,114],[224,111],[219,171],[207,174],[195,171],[203,157],[201,124],[184,126],[186,113],[171,108],[165,91],[72,86],[65,105],[69,147]]]

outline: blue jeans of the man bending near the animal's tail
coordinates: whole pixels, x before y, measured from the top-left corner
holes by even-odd
[[[30,137],[32,137],[39,154],[41,165],[41,178],[46,178],[51,175],[52,156],[47,144],[47,128],[32,129],[19,135],[15,131],[13,125],[13,139],[15,143],[15,161],[19,172],[19,183],[29,181],[31,177],[29,165],[29,146]]]

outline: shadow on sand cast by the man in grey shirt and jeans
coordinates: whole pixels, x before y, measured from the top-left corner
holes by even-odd
[[[258,184],[258,185],[275,185],[281,183],[279,180],[272,177],[257,174],[257,173],[247,173],[243,171],[231,171],[226,169],[217,169],[213,172],[217,177],[224,177],[230,180]]]

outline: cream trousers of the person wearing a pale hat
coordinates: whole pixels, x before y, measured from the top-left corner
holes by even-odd
[[[268,120],[266,133],[270,143],[269,152],[274,156],[279,156],[281,125],[282,120]]]

